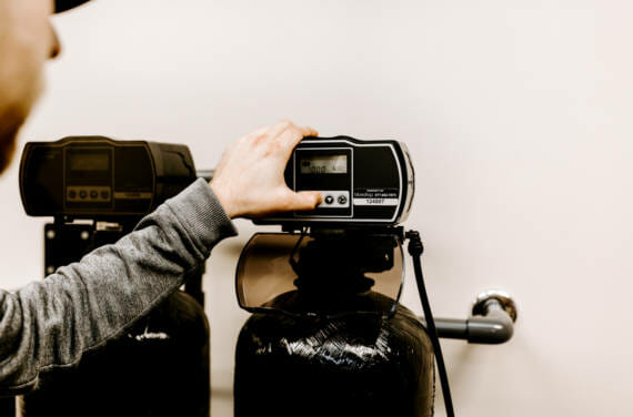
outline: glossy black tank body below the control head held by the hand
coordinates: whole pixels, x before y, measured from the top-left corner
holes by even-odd
[[[362,298],[376,311],[393,304],[375,293]],[[300,312],[302,302],[289,293],[273,304]],[[235,355],[235,417],[433,415],[433,348],[401,305],[391,317],[257,313],[242,328]]]

